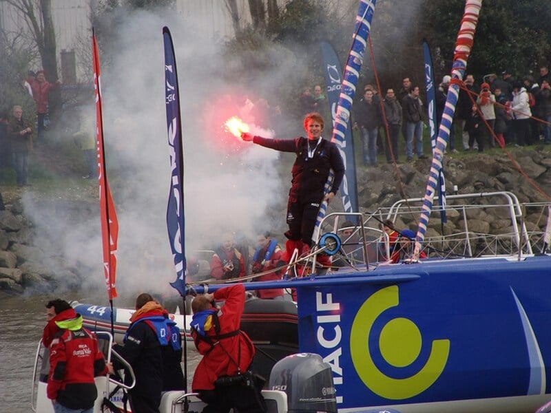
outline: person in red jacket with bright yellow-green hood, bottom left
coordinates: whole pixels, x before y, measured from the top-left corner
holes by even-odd
[[[98,396],[94,377],[112,373],[112,366],[105,363],[95,335],[83,328],[82,316],[67,301],[55,299],[46,308],[43,343],[50,348],[48,399],[56,413],[92,412]]]

